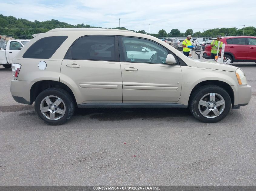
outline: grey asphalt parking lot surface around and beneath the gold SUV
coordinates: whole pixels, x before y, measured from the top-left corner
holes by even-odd
[[[214,124],[188,109],[79,109],[48,126],[0,66],[0,185],[256,185],[256,64],[234,63],[251,101]]]

